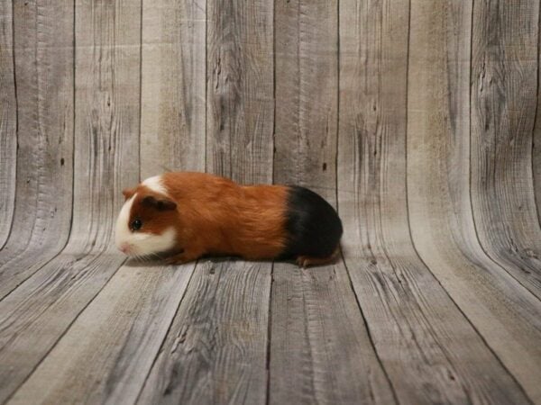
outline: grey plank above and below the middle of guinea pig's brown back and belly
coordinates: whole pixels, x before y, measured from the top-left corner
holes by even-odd
[[[207,4],[206,170],[271,183],[272,2]],[[200,261],[139,403],[265,403],[271,264]]]

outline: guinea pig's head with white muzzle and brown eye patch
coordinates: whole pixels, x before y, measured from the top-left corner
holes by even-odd
[[[115,245],[128,256],[145,257],[175,247],[177,203],[147,187],[124,190],[115,227]]]

